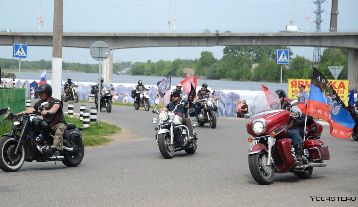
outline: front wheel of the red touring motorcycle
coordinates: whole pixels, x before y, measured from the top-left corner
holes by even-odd
[[[270,184],[275,177],[274,166],[267,166],[266,162],[267,153],[265,151],[248,156],[248,167],[250,168],[251,175],[261,185]]]

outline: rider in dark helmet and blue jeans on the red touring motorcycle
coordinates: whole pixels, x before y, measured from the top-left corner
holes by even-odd
[[[291,112],[291,116],[296,116],[298,115],[298,117],[300,117],[302,115],[301,110],[299,109],[299,107],[297,106],[290,106],[290,102],[286,100],[286,93],[284,90],[276,90],[275,91],[277,93],[277,95],[279,95],[280,98],[280,102],[281,102],[281,109],[284,110],[288,110]],[[296,158],[297,161],[302,162],[302,139],[301,139],[301,135],[300,132],[295,129],[295,124],[294,124],[294,119],[290,118],[289,123],[287,124],[287,131],[290,135],[290,138],[292,139],[292,144],[295,148],[295,154],[296,154]],[[293,126],[293,127],[292,127]]]

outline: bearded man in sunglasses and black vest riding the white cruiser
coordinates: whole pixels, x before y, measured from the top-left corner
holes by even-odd
[[[171,101],[168,105],[166,105],[164,108],[159,109],[158,111],[171,111],[175,108],[176,105],[180,104],[180,93],[178,91],[174,91],[171,94],[171,98],[173,99],[173,101]],[[177,115],[183,117],[183,124],[189,129],[189,140],[194,140],[192,122],[190,121],[189,118],[187,118],[188,108],[189,108],[189,102],[185,101],[184,106],[176,107],[175,112],[177,113]]]

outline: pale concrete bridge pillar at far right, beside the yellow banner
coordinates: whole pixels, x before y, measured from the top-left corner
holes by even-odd
[[[358,91],[358,49],[348,49],[349,91]]]

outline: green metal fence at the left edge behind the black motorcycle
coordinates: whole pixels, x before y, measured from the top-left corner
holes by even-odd
[[[17,114],[26,109],[25,88],[1,88],[0,89],[0,109],[10,107],[10,113]],[[0,116],[0,128],[11,127],[13,122],[4,120],[4,115]]]

